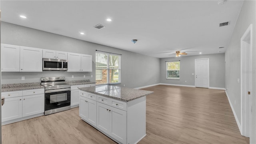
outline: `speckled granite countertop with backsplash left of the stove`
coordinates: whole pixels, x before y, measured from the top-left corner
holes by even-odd
[[[20,84],[2,84],[1,92],[13,92],[18,90],[33,90],[41,89],[44,86],[41,86],[40,82],[31,82],[31,83],[20,83]]]

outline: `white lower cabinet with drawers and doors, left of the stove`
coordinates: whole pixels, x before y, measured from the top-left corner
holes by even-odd
[[[44,89],[2,92],[2,124],[18,122],[44,113]],[[32,117],[31,117],[32,116]],[[4,123],[3,123],[4,122]]]

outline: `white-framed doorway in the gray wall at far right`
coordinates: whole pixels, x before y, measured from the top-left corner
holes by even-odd
[[[251,96],[246,92],[252,92],[252,24],[247,28],[241,37],[241,135],[250,137],[250,126],[252,113]],[[250,42],[250,46],[248,43]],[[249,57],[248,57],[249,54]]]

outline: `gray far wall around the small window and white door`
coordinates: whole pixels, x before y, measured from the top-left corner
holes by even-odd
[[[198,56],[181,56],[179,58],[160,59],[160,81],[165,84],[195,86],[195,59],[209,58],[210,87],[225,87],[225,54],[207,54]],[[166,62],[180,60],[180,80],[166,79]],[[186,82],[185,82],[186,81]]]

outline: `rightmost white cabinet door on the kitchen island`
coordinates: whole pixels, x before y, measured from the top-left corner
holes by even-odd
[[[126,111],[110,107],[110,136],[126,144]]]

